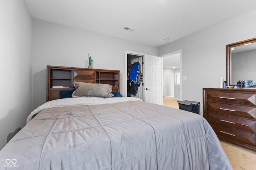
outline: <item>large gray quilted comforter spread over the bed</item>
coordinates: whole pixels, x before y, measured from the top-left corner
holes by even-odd
[[[0,169],[232,169],[198,114],[142,101],[50,105],[0,151]]]

